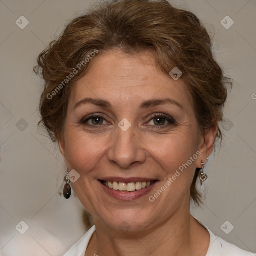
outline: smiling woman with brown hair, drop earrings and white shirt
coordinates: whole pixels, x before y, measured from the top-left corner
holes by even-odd
[[[227,84],[208,33],[167,1],[99,4],[38,57],[41,122],[94,226],[70,255],[253,255],[190,215]]]

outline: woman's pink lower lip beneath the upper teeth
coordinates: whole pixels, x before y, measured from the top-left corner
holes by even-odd
[[[136,199],[146,195],[153,188],[153,186],[157,183],[157,181],[156,181],[149,187],[142,188],[140,190],[135,190],[132,192],[128,192],[128,191],[114,190],[112,188],[109,188],[109,187],[103,185],[99,180],[98,180],[98,182],[107,194],[111,195],[115,199],[123,200],[123,201],[136,200]]]

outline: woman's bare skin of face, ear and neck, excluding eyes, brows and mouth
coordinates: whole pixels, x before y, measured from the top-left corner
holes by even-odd
[[[190,95],[182,78],[172,79],[156,66],[149,52],[126,55],[118,50],[100,52],[88,72],[72,86],[63,138],[59,149],[68,170],[80,178],[72,183],[79,200],[92,214],[96,232],[85,255],[200,255],[206,254],[209,233],[189,213],[195,168],[201,168],[213,148],[216,125],[202,135]],[[104,99],[103,108],[91,103],[74,106],[83,98]],[[140,109],[145,100],[170,98],[178,102]],[[81,123],[90,114],[96,118]],[[175,122],[151,114],[165,114]],[[118,127],[126,118],[127,131]],[[94,125],[94,126],[93,126]],[[157,198],[149,201],[183,163],[200,156]],[[138,199],[123,201],[108,195],[98,179],[146,177],[159,180]],[[128,224],[123,232],[120,225]]]

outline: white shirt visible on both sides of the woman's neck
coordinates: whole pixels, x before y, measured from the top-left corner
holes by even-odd
[[[210,245],[206,256],[256,256],[254,253],[242,250],[215,236],[205,225],[203,226],[210,233]],[[95,226],[92,226],[63,256],[84,256],[89,240],[94,232]]]

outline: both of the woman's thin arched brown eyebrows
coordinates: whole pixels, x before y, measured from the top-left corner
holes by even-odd
[[[108,101],[106,101],[104,99],[83,98],[82,100],[78,101],[74,105],[73,110],[75,108],[77,108],[77,107],[79,107],[81,105],[87,104],[87,103],[90,103],[90,104],[93,104],[93,105],[96,105],[96,106],[99,106],[99,107],[102,107],[102,108],[111,108],[112,107],[112,105]],[[173,104],[173,105],[178,106],[182,110],[184,109],[184,106],[182,104],[180,104],[177,101],[175,101],[174,99],[170,99],[170,98],[154,98],[154,99],[149,99],[149,100],[143,101],[140,104],[139,108],[143,109],[143,108],[149,108],[149,107],[163,105],[163,104]]]

